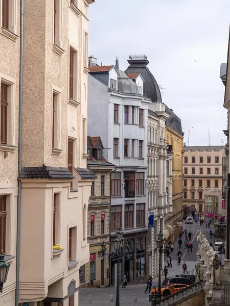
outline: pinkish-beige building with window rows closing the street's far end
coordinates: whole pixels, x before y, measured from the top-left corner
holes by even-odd
[[[223,146],[183,147],[183,206],[193,207],[192,214],[208,217],[204,205],[204,190],[222,192]],[[218,212],[221,213],[221,212]]]

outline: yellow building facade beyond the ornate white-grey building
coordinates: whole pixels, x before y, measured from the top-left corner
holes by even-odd
[[[183,136],[166,126],[167,143],[172,145],[172,202],[173,213],[182,209],[183,183]]]

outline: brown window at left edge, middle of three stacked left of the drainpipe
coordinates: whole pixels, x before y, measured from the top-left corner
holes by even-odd
[[[7,144],[8,86],[1,83],[1,143]]]

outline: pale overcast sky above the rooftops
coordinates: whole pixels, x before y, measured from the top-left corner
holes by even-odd
[[[227,60],[229,0],[96,0],[89,19],[89,55],[99,64],[115,64],[118,56],[125,70],[129,55],[147,56],[185,142],[190,129],[190,145],[208,145],[210,125],[210,144],[226,143],[219,73]]]

